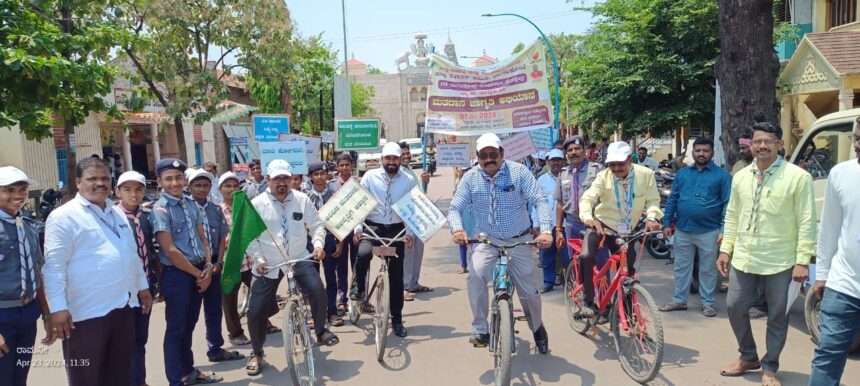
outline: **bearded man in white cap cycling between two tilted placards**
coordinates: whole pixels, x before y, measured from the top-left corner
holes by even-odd
[[[395,237],[405,225],[395,212],[393,205],[403,196],[409,194],[418,181],[404,173],[400,168],[400,146],[395,142],[386,143],[382,147],[382,168],[373,169],[364,174],[361,186],[367,189],[379,201],[365,220],[379,237]],[[373,258],[374,242],[362,239],[362,227],[355,229],[354,242],[358,244],[358,259],[355,262],[355,277],[367,276],[370,259]],[[404,247],[412,247],[412,235],[407,234],[406,245],[394,243],[397,256],[404,256]],[[388,280],[391,283],[391,325],[394,334],[406,337],[406,327],[403,327],[403,259],[391,259],[388,262]],[[355,286],[350,292],[354,300],[364,299],[365,281],[355,280]]]

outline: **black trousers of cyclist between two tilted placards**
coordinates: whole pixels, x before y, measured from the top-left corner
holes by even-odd
[[[370,229],[373,230],[379,237],[394,237],[403,230],[403,223],[383,225],[366,221]],[[367,271],[370,269],[370,259],[373,258],[373,247],[380,246],[378,241],[373,241],[367,238],[361,240],[358,244],[358,259],[355,262],[356,278],[367,276]],[[403,323],[403,256],[406,244],[403,242],[394,243],[392,245],[397,249],[397,257],[392,257],[388,260],[388,285],[391,286],[391,322],[394,324]],[[355,280],[355,285],[359,291],[366,293],[364,280]]]

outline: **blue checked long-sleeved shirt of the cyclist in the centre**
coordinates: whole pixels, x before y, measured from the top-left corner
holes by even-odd
[[[507,240],[530,228],[529,205],[537,207],[541,231],[550,231],[547,198],[534,175],[522,164],[504,161],[493,178],[480,167],[463,175],[451,200],[448,222],[452,232],[463,230],[463,213],[471,207],[478,232]]]

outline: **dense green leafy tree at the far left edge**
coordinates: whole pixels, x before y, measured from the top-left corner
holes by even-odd
[[[118,117],[102,98],[113,84],[107,57],[119,38],[103,24],[106,3],[0,1],[0,127],[18,124],[27,139],[42,140],[52,136],[54,118],[62,120],[70,179],[75,126],[91,112]]]

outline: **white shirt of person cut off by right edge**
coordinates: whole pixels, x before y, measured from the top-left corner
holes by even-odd
[[[818,232],[815,280],[860,298],[860,164],[841,162],[830,170]]]

